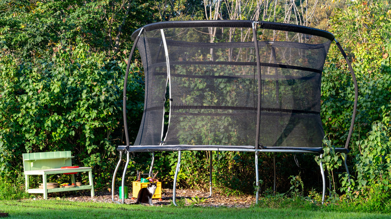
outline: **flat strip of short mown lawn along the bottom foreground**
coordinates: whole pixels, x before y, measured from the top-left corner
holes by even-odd
[[[8,218],[390,218],[386,214],[335,212],[322,209],[145,206],[67,200],[0,201]]]

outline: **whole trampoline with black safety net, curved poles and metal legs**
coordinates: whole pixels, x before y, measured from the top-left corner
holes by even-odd
[[[254,152],[257,187],[260,152],[321,155],[325,135],[320,118],[321,76],[332,42],[344,56],[354,82],[354,106],[346,143],[335,148],[345,155],[349,152],[357,83],[348,58],[332,33],[266,21],[197,20],[148,24],[137,29],[132,39],[123,89],[126,145],[117,147],[113,201],[115,176],[126,154],[124,189],[130,152],[151,152],[151,173],[155,151],[178,151],[172,195],[175,205],[182,150]],[[144,67],[145,101],[137,138],[130,145],[126,86],[135,47]],[[348,172],[346,159],[345,167]],[[323,202],[322,163],[320,170]],[[212,159],[210,171],[212,195]],[[258,193],[257,190],[256,202]]]

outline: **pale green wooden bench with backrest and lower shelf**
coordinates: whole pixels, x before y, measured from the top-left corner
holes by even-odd
[[[92,181],[91,167],[78,168],[61,168],[63,166],[72,166],[71,151],[53,151],[53,152],[38,152],[24,153],[23,167],[26,178],[26,192],[43,193],[44,199],[48,198],[48,192],[73,191],[81,189],[91,189],[91,197],[95,195],[94,184]],[[47,175],[73,172],[88,172],[89,185],[81,185],[75,187],[58,187],[48,188]],[[43,188],[30,188],[29,176],[42,175]],[[75,174],[72,174],[72,183],[75,183]]]

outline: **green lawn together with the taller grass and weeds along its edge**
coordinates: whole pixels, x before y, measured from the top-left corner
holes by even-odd
[[[1,181],[1,180],[0,180]],[[8,218],[391,218],[389,214],[369,213],[368,201],[358,204],[342,202],[313,204],[304,197],[283,194],[261,197],[257,206],[250,208],[184,206],[144,206],[135,204],[74,202],[65,199],[33,200],[22,187],[3,181],[0,184],[0,212]],[[7,200],[5,200],[7,199]],[[198,202],[197,198],[192,201]],[[387,201],[387,200],[384,200]],[[183,202],[183,203],[182,203]],[[376,202],[377,203],[377,202]],[[361,208],[358,206],[362,206]],[[381,212],[389,212],[381,210]]]

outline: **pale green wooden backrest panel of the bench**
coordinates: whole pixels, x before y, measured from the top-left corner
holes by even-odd
[[[23,168],[29,171],[71,166],[72,157],[71,151],[24,153]]]

